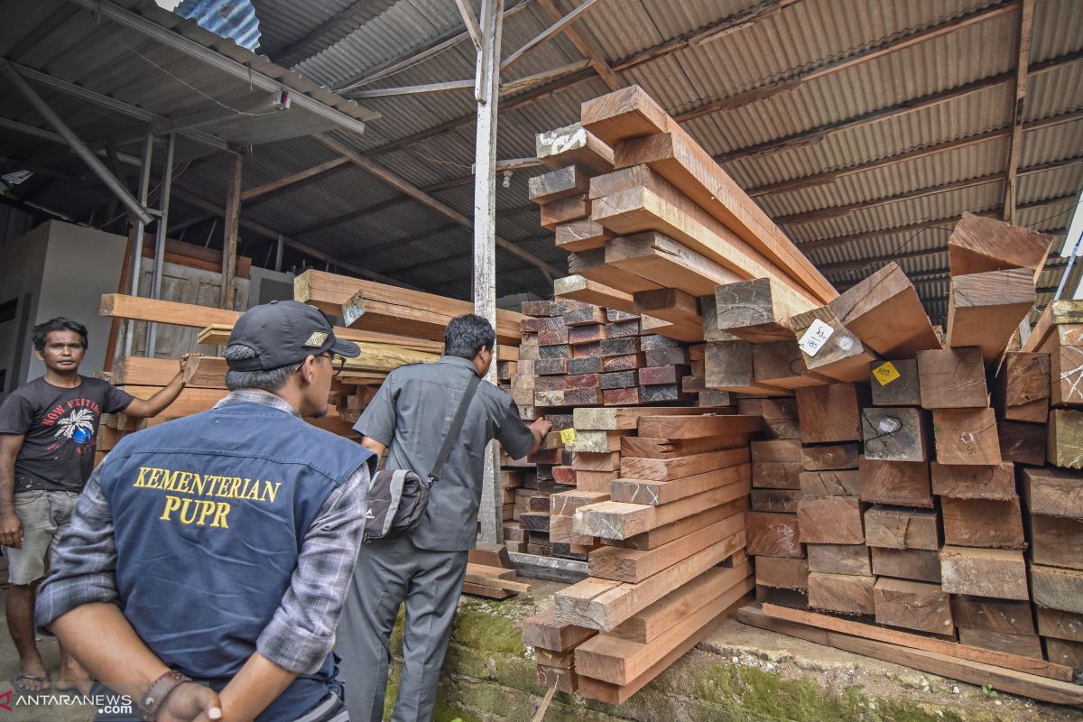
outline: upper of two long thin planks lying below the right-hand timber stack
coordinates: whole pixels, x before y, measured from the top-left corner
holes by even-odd
[[[825,614],[817,614],[815,612],[791,609],[788,607],[778,606],[774,604],[765,604],[762,611],[765,615],[777,619],[786,619],[788,621],[828,629],[835,632],[851,634],[853,636],[860,636],[867,640],[887,642],[889,644],[897,644],[912,649],[935,652],[944,656],[957,657],[958,659],[969,659],[971,661],[979,661],[986,665],[996,665],[997,667],[1014,669],[1028,674],[1036,674],[1051,680],[1060,680],[1064,682],[1071,682],[1072,680],[1072,669],[1070,667],[1056,665],[1042,659],[1033,659],[1031,657],[1022,657],[1020,655],[1007,654],[1005,652],[996,652],[994,649],[958,644],[957,642],[945,642],[943,640],[931,639],[921,634],[911,634],[909,632],[901,632],[893,629],[885,629],[884,627],[865,625],[850,619],[840,619]],[[1083,694],[1083,690],[1080,692]]]

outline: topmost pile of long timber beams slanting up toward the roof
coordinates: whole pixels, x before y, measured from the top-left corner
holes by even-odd
[[[785,315],[838,294],[710,155],[638,86],[583,104],[537,136],[553,170],[531,180],[542,225],[569,251],[558,297],[648,314],[681,341],[703,333],[702,298],[764,279]]]

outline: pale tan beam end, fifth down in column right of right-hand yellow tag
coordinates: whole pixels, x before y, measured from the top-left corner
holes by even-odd
[[[1027,565],[1019,551],[944,547],[940,550],[940,583],[952,594],[1030,599]]]

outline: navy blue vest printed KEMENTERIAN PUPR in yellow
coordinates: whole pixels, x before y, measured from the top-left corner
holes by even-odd
[[[103,463],[121,609],[161,660],[221,690],[256,652],[328,495],[371,452],[265,404],[231,403],[122,439]],[[334,688],[328,655],[257,718]]]

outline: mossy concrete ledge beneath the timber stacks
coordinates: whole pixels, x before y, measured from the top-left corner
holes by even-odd
[[[551,606],[552,582],[503,602],[464,596],[441,675],[435,722],[529,722],[545,690],[519,620]],[[402,616],[386,719],[399,684]],[[1083,722],[1042,705],[726,621],[624,705],[558,694],[547,722]]]

